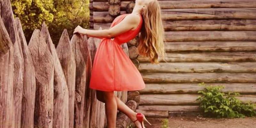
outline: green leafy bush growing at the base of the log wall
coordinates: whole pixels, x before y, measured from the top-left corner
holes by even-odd
[[[205,116],[210,117],[245,117],[256,116],[254,107],[256,104],[250,102],[242,103],[235,96],[240,94],[237,92],[221,92],[224,86],[207,86],[200,83],[199,86],[204,86],[204,90],[198,91],[201,96],[196,100],[200,101],[200,109]]]

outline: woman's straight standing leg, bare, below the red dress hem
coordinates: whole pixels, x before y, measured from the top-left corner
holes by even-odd
[[[117,104],[114,92],[103,92],[108,128],[116,128]]]

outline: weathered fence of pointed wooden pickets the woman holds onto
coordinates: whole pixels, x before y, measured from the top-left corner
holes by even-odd
[[[101,40],[80,35],[69,40],[64,30],[55,49],[44,23],[41,30],[34,30],[27,45],[10,0],[0,2],[0,128],[106,126],[105,105],[89,88]],[[128,56],[127,44],[120,46]],[[115,94],[126,103],[127,91]],[[137,107],[133,100],[127,104],[133,110]],[[118,117],[120,127],[130,123],[124,114]]]

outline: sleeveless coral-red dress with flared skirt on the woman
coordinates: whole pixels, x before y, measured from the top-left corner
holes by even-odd
[[[125,16],[117,16],[111,27],[121,22]],[[142,26],[142,16],[140,24],[135,30],[129,30],[123,34],[111,38],[103,38],[94,57],[90,88],[100,91],[134,91],[145,88],[145,83],[139,70],[125,54],[121,44],[136,37]]]

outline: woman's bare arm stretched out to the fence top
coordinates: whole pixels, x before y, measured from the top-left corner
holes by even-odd
[[[79,33],[82,35],[97,37],[97,38],[111,38],[117,35],[120,35],[126,31],[129,31],[133,28],[136,28],[140,23],[140,17],[136,14],[129,14],[127,15],[124,20],[120,23],[115,25],[110,29],[103,29],[103,30],[90,30],[84,29],[80,26],[77,27],[74,31],[74,34]]]

